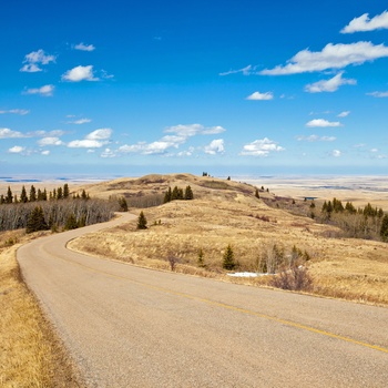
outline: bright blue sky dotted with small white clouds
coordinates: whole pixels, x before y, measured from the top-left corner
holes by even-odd
[[[381,175],[388,2],[2,1],[0,177]]]

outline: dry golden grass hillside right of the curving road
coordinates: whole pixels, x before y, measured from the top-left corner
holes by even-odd
[[[233,246],[239,269],[256,270],[257,257],[264,249],[278,244],[290,252],[296,245],[312,256],[308,268],[314,277],[313,293],[388,304],[387,244],[327,238],[334,227],[270,208],[254,197],[252,186],[181,174],[113,181],[89,191],[100,192],[102,196],[112,192],[125,195],[136,191],[157,193],[169,185],[185,187],[187,184],[194,191],[194,201],[175,201],[144,210],[149,229],[136,231],[133,222],[81,237],[72,242],[71,247],[161,269],[169,269],[167,257],[174,256],[178,258],[177,272],[267,285],[268,277],[231,279],[225,276],[222,259],[226,246]],[[262,195],[272,196],[270,193]],[[200,249],[203,249],[206,269],[197,267]]]

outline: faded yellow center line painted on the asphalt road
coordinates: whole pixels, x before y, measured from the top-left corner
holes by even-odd
[[[228,310],[242,313],[242,314],[245,314],[245,315],[251,315],[251,316],[255,316],[255,317],[258,317],[258,318],[276,321],[278,324],[283,324],[283,325],[286,325],[286,326],[289,326],[289,327],[295,327],[295,328],[298,328],[298,329],[302,329],[302,330],[319,334],[319,335],[323,335],[323,336],[326,336],[326,337],[340,339],[340,340],[344,340],[344,341],[347,341],[347,343],[350,343],[350,344],[354,344],[354,345],[360,345],[360,346],[364,346],[364,347],[369,348],[369,349],[379,350],[379,351],[388,354],[388,348],[385,348],[382,346],[368,344],[368,343],[365,343],[365,341],[361,341],[361,340],[353,339],[350,337],[337,335],[337,334],[334,334],[334,333],[330,333],[330,331],[326,331],[326,330],[320,330],[320,329],[317,329],[317,328],[312,327],[312,326],[298,324],[298,323],[295,323],[295,321],[292,321],[292,320],[274,317],[274,316],[266,315],[266,314],[263,314],[263,313],[257,313],[257,312],[253,312],[253,310],[245,309],[245,308],[242,308],[242,307],[227,305],[227,304],[222,303],[222,302],[215,302],[215,300],[202,298],[202,297],[190,295],[190,294],[175,292],[175,290],[172,290],[172,289],[169,289],[169,288],[163,288],[163,287],[160,287],[160,286],[154,286],[154,285],[151,285],[151,284],[137,282],[137,280],[131,279],[131,278],[125,277],[125,276],[114,275],[114,274],[108,273],[105,270],[95,269],[95,268],[90,267],[88,265],[84,265],[84,264],[81,264],[81,263],[78,263],[78,262],[73,262],[73,261],[69,261],[69,259],[65,259],[65,258],[62,258],[62,259],[65,261],[65,262],[71,262],[73,264],[76,264],[76,265],[79,265],[79,266],[81,266],[83,268],[89,269],[90,272],[103,274],[103,275],[110,276],[112,278],[121,279],[121,280],[130,280],[132,283],[135,283],[135,284],[137,284],[137,285],[140,285],[142,287],[149,288],[149,289],[154,289],[154,290],[162,292],[162,293],[165,293],[165,294],[180,296],[182,298],[201,302],[201,303],[204,303],[204,304],[207,304],[207,305],[211,305],[211,306],[216,306],[216,307],[225,308],[225,309],[228,309]]]

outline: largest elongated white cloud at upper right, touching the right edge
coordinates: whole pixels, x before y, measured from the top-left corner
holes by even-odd
[[[388,57],[388,48],[384,44],[374,45],[371,42],[328,43],[321,51],[313,52],[308,49],[299,51],[287,61],[286,65],[265,69],[261,74],[284,75],[327,69],[343,69],[349,64],[363,64],[366,61],[374,61],[385,57]]]

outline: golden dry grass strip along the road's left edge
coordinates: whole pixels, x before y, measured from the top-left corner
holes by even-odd
[[[20,231],[0,234],[0,386],[79,387],[59,340],[20,277],[19,244],[12,244],[25,239]]]

